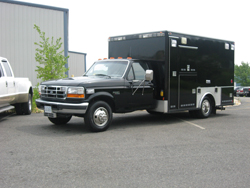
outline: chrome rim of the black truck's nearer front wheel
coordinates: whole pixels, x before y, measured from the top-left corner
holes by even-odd
[[[108,122],[108,111],[106,108],[99,107],[95,110],[93,115],[94,123],[102,127]]]

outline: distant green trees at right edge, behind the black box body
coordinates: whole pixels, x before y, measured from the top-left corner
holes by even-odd
[[[241,62],[241,65],[235,65],[235,81],[241,86],[250,86],[250,66],[248,63]]]

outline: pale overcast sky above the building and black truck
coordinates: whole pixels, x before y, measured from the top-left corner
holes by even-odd
[[[69,51],[87,68],[108,57],[110,36],[174,31],[235,42],[235,64],[250,63],[248,0],[20,0],[69,9]]]

